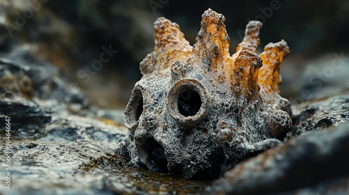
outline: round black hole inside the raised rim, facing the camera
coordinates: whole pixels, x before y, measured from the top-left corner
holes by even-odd
[[[184,89],[178,95],[178,111],[183,116],[194,116],[201,107],[199,93],[191,88]]]

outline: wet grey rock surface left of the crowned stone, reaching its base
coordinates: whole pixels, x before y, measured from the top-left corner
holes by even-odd
[[[126,167],[114,151],[126,136],[122,112],[92,107],[30,51],[25,46],[0,59],[2,170],[11,156],[10,190],[1,186],[0,194],[191,194],[207,185]]]

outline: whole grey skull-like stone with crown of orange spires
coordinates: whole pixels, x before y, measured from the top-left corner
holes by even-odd
[[[284,40],[256,54],[262,23],[251,21],[229,54],[225,17],[209,9],[192,47],[178,24],[154,24],[154,52],[140,63],[126,108],[131,164],[185,178],[218,176],[248,155],[281,145],[292,127],[279,95]]]

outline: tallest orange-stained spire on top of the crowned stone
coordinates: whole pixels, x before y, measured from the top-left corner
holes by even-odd
[[[193,54],[200,63],[215,69],[229,55],[229,36],[225,29],[225,17],[208,9],[202,14],[201,29],[196,38]]]

